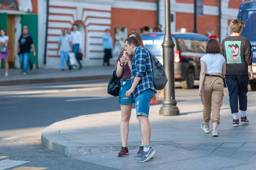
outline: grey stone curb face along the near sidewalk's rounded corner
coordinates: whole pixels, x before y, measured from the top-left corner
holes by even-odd
[[[69,141],[67,140],[66,143]],[[82,146],[74,145],[70,142],[70,146],[62,145],[57,141],[51,141],[44,134],[41,134],[41,143],[46,150],[53,151],[69,157],[96,155],[107,152],[120,151],[122,145],[95,145],[95,146]],[[136,149],[138,145],[128,145],[129,149]]]

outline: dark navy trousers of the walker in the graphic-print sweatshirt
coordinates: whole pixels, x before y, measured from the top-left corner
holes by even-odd
[[[238,113],[238,100],[239,110],[246,111],[249,75],[227,75],[225,81],[230,97],[231,113]]]

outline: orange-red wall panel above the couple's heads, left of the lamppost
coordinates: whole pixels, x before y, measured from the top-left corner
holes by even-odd
[[[131,29],[140,32],[140,28],[149,26],[154,28],[157,24],[157,11],[146,11],[137,9],[112,8],[111,10],[111,35],[114,35],[114,28],[121,26],[127,28],[128,34]]]

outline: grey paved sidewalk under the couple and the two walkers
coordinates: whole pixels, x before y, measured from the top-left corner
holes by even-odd
[[[151,106],[151,145],[157,153],[146,164],[139,164],[133,159],[141,142],[134,109],[128,137],[130,155],[125,158],[117,157],[122,146],[120,111],[56,122],[41,133],[42,145],[75,159],[116,169],[147,169],[150,165],[153,169],[164,170],[255,170],[255,93],[248,94],[247,116],[250,125],[233,127],[225,89],[219,137],[212,137],[211,133],[206,134],[201,129],[203,106],[197,93],[197,89],[176,93],[180,116],[160,116],[161,105]]]

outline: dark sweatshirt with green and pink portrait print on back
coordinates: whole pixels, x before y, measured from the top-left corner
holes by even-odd
[[[226,75],[248,74],[253,51],[250,41],[242,36],[228,36],[221,43],[221,54],[226,59]]]

